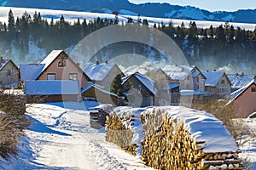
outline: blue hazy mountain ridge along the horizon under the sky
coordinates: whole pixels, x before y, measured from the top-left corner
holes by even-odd
[[[169,3],[130,3],[129,0],[0,0],[0,6],[20,8],[49,8],[73,11],[90,11],[119,14],[141,14],[148,17],[182,20],[212,20],[256,24],[256,9],[239,9],[234,12],[215,11],[192,6],[179,6]],[[108,11],[108,12],[106,12]]]

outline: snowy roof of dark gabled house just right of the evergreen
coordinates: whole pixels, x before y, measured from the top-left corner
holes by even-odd
[[[125,83],[131,76],[137,77],[137,79],[143,83],[143,85],[148,88],[148,90],[152,93],[152,94],[156,94],[157,90],[156,88],[154,88],[154,80],[145,77],[143,74],[139,73],[139,72],[135,72],[130,76],[127,77],[123,77],[123,82]]]

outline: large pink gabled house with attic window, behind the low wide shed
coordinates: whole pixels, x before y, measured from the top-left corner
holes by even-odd
[[[63,83],[74,81],[74,83],[78,83],[80,92],[81,88],[89,85],[90,78],[63,50],[53,50],[39,64],[20,65],[20,80],[25,86],[27,81],[61,81]],[[40,86],[41,83],[35,82],[34,85]],[[26,89],[26,87],[24,88]],[[62,87],[58,86],[58,88],[61,90]],[[38,87],[38,89],[42,88]]]

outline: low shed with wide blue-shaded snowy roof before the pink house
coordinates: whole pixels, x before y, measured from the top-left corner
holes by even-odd
[[[79,82],[78,81],[26,81],[24,94],[28,96],[41,96],[44,101],[78,101]]]

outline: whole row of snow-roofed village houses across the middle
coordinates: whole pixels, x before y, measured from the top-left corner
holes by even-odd
[[[111,93],[119,75],[124,96]],[[125,75],[114,63],[88,63],[79,67],[63,50],[52,51],[39,64],[18,68],[11,59],[0,57],[1,88],[20,87],[25,95],[40,95],[45,101],[95,100],[102,104],[179,105],[203,99],[229,99],[237,117],[256,111],[256,76],[201,71],[197,66],[166,65],[152,77],[140,72]]]

